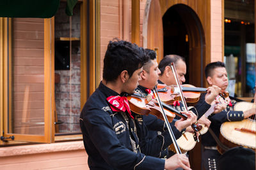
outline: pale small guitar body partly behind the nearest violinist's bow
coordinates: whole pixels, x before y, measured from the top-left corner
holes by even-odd
[[[182,153],[186,153],[189,150],[192,150],[196,145],[196,141],[194,140],[193,133],[185,132],[184,134],[187,139],[184,137],[184,135],[180,136],[180,138],[177,139],[177,144],[179,145],[180,151]],[[169,146],[169,149],[172,150],[172,152],[176,153],[173,144]]]

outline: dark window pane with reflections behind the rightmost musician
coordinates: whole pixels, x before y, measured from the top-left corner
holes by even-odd
[[[230,96],[253,97],[255,93],[254,9],[254,0],[225,0],[224,59]]]

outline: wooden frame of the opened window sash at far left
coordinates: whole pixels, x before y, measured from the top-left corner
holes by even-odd
[[[44,19],[44,135],[31,135],[31,134],[15,134],[8,132],[8,128],[11,129],[11,119],[8,115],[12,114],[12,18],[2,18],[1,19],[1,42],[3,44],[3,54],[1,54],[1,60],[3,60],[3,67],[1,67],[1,90],[3,90],[3,96],[1,96],[1,105],[3,105],[3,110],[1,110],[1,136],[4,138],[10,138],[14,136],[14,139],[6,139],[6,141],[1,141],[1,145],[17,143],[17,141],[25,142],[35,142],[35,143],[51,143],[54,141],[54,136],[52,135],[52,125],[54,125],[54,118],[52,115],[54,113],[54,86],[52,86],[52,81],[54,82],[54,43],[52,43],[51,34],[53,31],[51,25],[54,23],[54,18]],[[53,37],[54,38],[54,37]],[[51,69],[49,69],[51,68]],[[53,87],[53,89],[52,89]],[[6,123],[8,122],[8,123]],[[8,127],[9,125],[9,127]],[[4,132],[4,134],[3,134]],[[10,141],[10,142],[8,142]]]

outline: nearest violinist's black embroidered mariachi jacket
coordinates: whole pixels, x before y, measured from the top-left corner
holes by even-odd
[[[118,95],[100,83],[81,111],[80,126],[88,166],[90,169],[164,169],[165,160],[152,156],[170,145],[168,131],[149,140],[141,115],[132,113],[133,120],[128,113],[111,111],[106,98]]]

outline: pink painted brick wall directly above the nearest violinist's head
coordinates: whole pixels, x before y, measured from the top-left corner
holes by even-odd
[[[124,39],[131,41],[131,0],[129,1],[129,38],[123,37],[123,0],[101,0],[100,1],[100,80],[102,79],[103,59],[109,41],[113,38]],[[142,24],[145,4],[147,0],[140,0],[140,45],[142,41]]]

